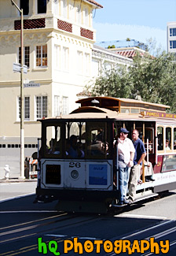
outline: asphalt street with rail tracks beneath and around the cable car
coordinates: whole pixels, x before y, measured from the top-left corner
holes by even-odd
[[[176,191],[141,206],[98,215],[57,212],[56,202],[34,204],[35,186],[36,182],[0,184],[0,255],[96,255],[98,250],[99,255],[116,255],[119,241],[134,246],[135,241],[148,240],[151,246],[152,238],[157,245],[140,255],[156,254],[157,250],[175,254]],[[140,243],[131,251],[129,248],[127,253],[133,255],[141,250]],[[127,254],[123,248],[121,253]]]

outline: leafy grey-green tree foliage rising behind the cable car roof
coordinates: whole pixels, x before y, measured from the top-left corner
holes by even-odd
[[[138,98],[170,106],[176,113],[176,56],[163,52],[156,58],[134,58],[129,69],[118,67],[97,78],[92,95]]]

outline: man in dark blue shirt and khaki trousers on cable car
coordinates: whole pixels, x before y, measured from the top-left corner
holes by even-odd
[[[134,153],[134,166],[130,170],[130,179],[128,183],[130,202],[133,202],[136,198],[136,187],[138,185],[138,178],[140,177],[140,173],[141,173],[142,160],[144,160],[146,156],[145,145],[141,141],[141,139],[139,139],[138,130],[134,129],[132,133],[132,138],[133,138],[132,142],[134,143],[135,153]]]

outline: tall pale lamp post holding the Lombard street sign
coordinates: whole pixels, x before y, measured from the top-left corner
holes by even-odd
[[[24,176],[24,12],[16,3],[11,0],[12,5],[20,12],[20,53],[21,53],[21,67],[20,67],[20,178],[25,179]]]

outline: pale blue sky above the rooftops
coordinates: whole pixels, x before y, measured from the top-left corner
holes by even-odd
[[[167,50],[167,22],[176,21],[176,0],[96,0],[96,42],[134,39]]]

